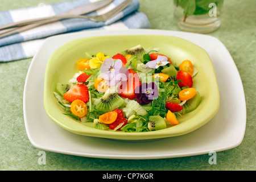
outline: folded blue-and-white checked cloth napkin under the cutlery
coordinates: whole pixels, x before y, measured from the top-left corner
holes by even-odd
[[[0,12],[0,25],[31,18],[56,15],[95,1],[97,0],[76,0],[26,9],[2,11]],[[113,9],[113,7],[119,5],[122,1],[123,0],[114,0],[110,5],[86,15],[94,16],[104,14]],[[33,57],[46,38],[57,34],[91,30],[150,28],[147,16],[138,9],[138,0],[133,0],[126,9],[106,22],[93,22],[92,20],[83,18],[63,19],[19,34],[7,36],[0,39],[0,62]]]

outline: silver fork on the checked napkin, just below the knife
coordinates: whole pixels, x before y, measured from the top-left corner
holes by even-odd
[[[57,18],[49,18],[47,20],[41,20],[36,23],[27,24],[25,26],[10,28],[9,30],[7,29],[7,30],[2,31],[2,33],[0,33],[0,39],[4,38],[6,36],[18,34],[20,32],[26,31],[26,30],[30,30],[30,29],[38,27],[38,26],[42,26],[47,23],[56,22],[57,20],[61,20],[61,19],[85,18],[85,19],[93,20],[94,22],[105,22],[106,20],[108,20],[108,19],[112,18],[113,16],[117,15],[118,13],[120,13],[123,9],[125,9],[128,5],[130,5],[130,3],[132,1],[133,0],[125,0],[122,3],[120,3],[118,6],[114,7],[112,10],[110,10],[107,13],[102,14],[102,15],[97,15],[97,16],[86,16],[86,15],[63,15],[63,16],[61,16],[60,15]]]

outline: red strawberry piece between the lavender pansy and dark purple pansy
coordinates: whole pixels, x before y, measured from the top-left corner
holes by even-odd
[[[129,78],[127,81],[122,82],[119,95],[125,98],[129,98],[133,100],[135,97],[134,90],[138,85],[141,85],[141,81],[139,80],[139,75],[133,69],[129,69]]]

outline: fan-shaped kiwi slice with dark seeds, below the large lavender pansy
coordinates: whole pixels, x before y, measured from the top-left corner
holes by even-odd
[[[123,100],[117,93],[106,92],[101,99],[94,102],[94,105],[96,105],[95,108],[97,110],[109,112],[122,106],[123,103],[125,103],[125,100]]]

